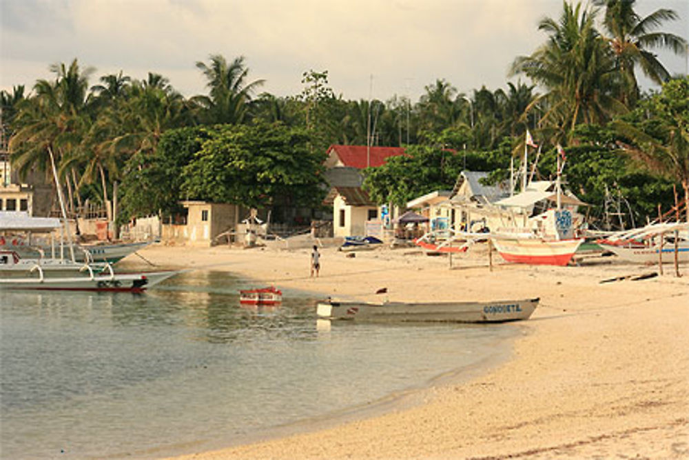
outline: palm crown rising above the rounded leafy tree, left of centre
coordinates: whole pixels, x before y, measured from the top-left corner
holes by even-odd
[[[195,96],[194,103],[202,109],[201,119],[205,123],[242,123],[247,114],[251,94],[263,80],[247,83],[249,69],[244,65],[244,57],[237,57],[227,63],[225,57],[214,54],[210,63],[196,63],[207,79],[210,88],[208,96]]]

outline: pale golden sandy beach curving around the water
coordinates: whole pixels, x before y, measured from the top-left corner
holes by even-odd
[[[677,278],[666,266],[663,277],[600,283],[656,268],[605,259],[517,266],[495,254],[491,272],[485,248],[453,257],[452,266],[414,248],[321,252],[318,279],[309,277],[306,249],[154,246],[141,254],[324,297],[373,301],[384,287],[398,301],[541,303],[506,362],[464,383],[420,390],[411,407],[179,458],[689,457],[689,273]]]

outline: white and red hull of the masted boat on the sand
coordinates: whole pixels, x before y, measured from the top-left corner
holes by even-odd
[[[491,241],[500,256],[507,262],[566,266],[584,239],[545,241],[493,237]]]

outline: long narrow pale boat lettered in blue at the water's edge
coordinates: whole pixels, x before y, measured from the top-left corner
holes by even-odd
[[[419,321],[455,323],[501,323],[528,319],[539,299],[491,302],[339,302],[324,301],[316,306],[322,319],[357,321]]]

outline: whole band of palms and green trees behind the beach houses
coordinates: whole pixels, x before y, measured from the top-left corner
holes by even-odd
[[[516,82],[463,93],[437,79],[416,102],[344,99],[327,70],[305,71],[299,94],[259,93],[264,82],[251,81],[246,59],[220,54],[196,62],[207,93],[185,98],[155,72],[90,86],[95,71],[74,59],[28,93],[1,92],[2,130],[15,170],[50,178],[54,162],[68,212],[100,203],[111,221],[171,215],[184,199],[317,207],[333,143],[406,147],[364,183],[379,203],[402,204],[451,188],[462,169],[506,178],[527,130],[542,149],[537,177],[555,174],[560,144],[568,186],[593,214],[614,190],[641,220],[674,203],[673,186],[689,196],[689,80],[654,53],[686,52],[685,39],[659,30],[677,14],[634,8],[565,1],[559,17],[539,22],[542,46],[513,61]],[[639,70],[661,90],[642,94]]]

